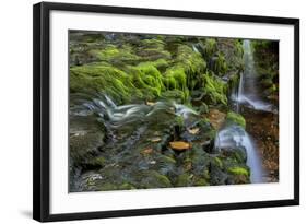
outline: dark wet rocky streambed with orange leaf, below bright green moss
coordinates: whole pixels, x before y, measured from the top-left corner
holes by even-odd
[[[70,113],[72,191],[249,182],[245,149],[216,151],[210,120],[187,106],[75,102],[83,103]]]

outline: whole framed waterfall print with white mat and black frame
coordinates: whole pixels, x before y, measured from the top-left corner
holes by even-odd
[[[299,20],[34,5],[34,219],[299,203]]]

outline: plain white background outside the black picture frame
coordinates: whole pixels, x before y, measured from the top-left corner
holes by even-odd
[[[56,0],[54,0],[56,1]],[[3,1],[0,11],[0,223],[34,223],[32,211],[32,4],[36,1]],[[84,2],[86,1],[68,1]],[[88,1],[87,1],[88,2]],[[300,2],[300,3],[299,3]],[[161,8],[222,13],[259,14],[300,17],[300,57],[306,58],[307,15],[304,1],[239,0],[92,0],[91,3]],[[307,94],[306,63],[300,67],[300,96]],[[307,114],[302,101],[302,115]],[[306,117],[302,117],[302,137],[306,134]],[[300,143],[300,161],[306,161],[306,142]],[[83,221],[75,223],[290,223],[305,220],[307,201],[306,163],[302,163],[302,205],[194,214]],[[69,222],[70,223],[70,222]]]

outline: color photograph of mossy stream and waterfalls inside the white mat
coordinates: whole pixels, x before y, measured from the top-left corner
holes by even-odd
[[[69,192],[279,182],[278,39],[68,33]]]

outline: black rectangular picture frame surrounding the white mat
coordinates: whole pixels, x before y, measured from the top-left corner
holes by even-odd
[[[294,27],[294,198],[287,200],[251,201],[210,205],[96,211],[50,214],[50,74],[49,42],[50,12],[52,10],[132,14],[143,16],[184,17],[212,21],[286,24]],[[292,134],[292,133],[291,133]],[[251,16],[238,14],[138,9],[90,4],[42,2],[33,8],[33,217],[40,222],[83,219],[105,219],[216,210],[285,207],[299,204],[299,20],[288,17]]]

